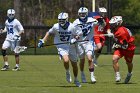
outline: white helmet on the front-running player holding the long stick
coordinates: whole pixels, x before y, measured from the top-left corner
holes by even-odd
[[[68,13],[64,13],[64,12],[60,13],[58,15],[58,22],[59,22],[59,24],[61,26],[65,26],[65,24],[68,22],[68,17],[69,17]]]

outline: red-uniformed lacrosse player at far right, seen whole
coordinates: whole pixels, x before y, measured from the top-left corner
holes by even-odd
[[[134,37],[132,36],[132,33],[128,28],[121,25],[122,22],[122,16],[114,16],[109,21],[115,38],[115,43],[112,48],[114,49],[113,68],[116,74],[116,82],[121,80],[118,61],[120,58],[124,57],[128,67],[128,73],[124,81],[124,83],[127,84],[132,76],[132,60],[136,46],[134,45]]]

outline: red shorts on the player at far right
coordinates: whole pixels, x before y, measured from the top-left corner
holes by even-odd
[[[117,49],[113,55],[118,55],[120,58],[124,56],[126,62],[132,62],[135,50]]]

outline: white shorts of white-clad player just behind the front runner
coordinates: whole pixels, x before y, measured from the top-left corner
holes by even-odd
[[[78,50],[79,50],[79,57],[84,58],[85,55],[94,55],[94,46],[93,41],[85,42],[82,44],[79,44]]]

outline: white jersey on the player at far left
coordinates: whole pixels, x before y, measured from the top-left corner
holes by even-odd
[[[14,35],[18,35],[18,33],[24,29],[21,23],[17,19],[14,19],[12,22],[6,20],[4,30],[7,31],[6,40],[14,41]]]

